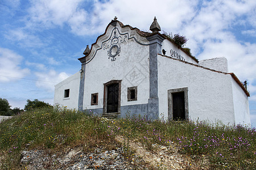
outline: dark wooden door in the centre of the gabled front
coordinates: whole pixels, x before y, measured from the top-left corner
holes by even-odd
[[[108,86],[107,113],[118,112],[118,90],[119,84],[114,83]]]

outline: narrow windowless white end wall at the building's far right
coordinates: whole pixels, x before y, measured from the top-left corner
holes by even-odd
[[[249,125],[251,121],[248,97],[234,79],[232,79],[232,91],[235,122]]]

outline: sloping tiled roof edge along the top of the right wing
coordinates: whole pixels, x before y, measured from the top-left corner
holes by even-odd
[[[176,61],[180,61],[180,62],[184,62],[184,63],[187,63],[189,65],[192,65],[192,66],[196,66],[196,67],[201,67],[203,69],[206,69],[206,70],[210,70],[210,71],[213,71],[213,72],[216,72],[216,73],[221,73],[221,74],[229,74],[232,76],[232,78],[237,82],[237,84],[242,88],[242,90],[245,92],[246,96],[250,97],[250,94],[249,92],[246,90],[246,88],[243,86],[243,84],[240,82],[240,80],[237,78],[236,74],[234,73],[225,73],[225,72],[222,72],[222,71],[217,71],[217,70],[213,70],[213,69],[209,69],[207,67],[203,67],[203,66],[200,66],[200,65],[196,65],[194,63],[190,63],[190,62],[187,62],[187,61],[183,61],[183,60],[180,60],[180,59],[176,59],[176,58],[172,58],[170,56],[164,56],[162,54],[158,54],[159,56],[162,56],[162,57],[167,57],[167,58],[171,58],[171,59],[174,59]]]

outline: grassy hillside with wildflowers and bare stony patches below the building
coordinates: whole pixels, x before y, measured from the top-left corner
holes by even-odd
[[[0,123],[1,169],[254,169],[255,129],[44,108]]]

